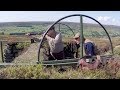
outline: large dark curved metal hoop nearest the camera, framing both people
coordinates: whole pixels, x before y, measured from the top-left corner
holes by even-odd
[[[65,17],[57,20],[55,23],[53,23],[53,24],[46,30],[46,32],[44,33],[43,38],[42,38],[42,40],[41,40],[41,42],[40,42],[40,44],[39,44],[39,49],[38,49],[38,62],[39,62],[39,60],[40,60],[40,48],[41,48],[43,39],[44,39],[45,35],[48,33],[48,31],[50,30],[50,28],[53,27],[53,26],[54,26],[55,24],[57,24],[58,22],[60,22],[61,20],[66,19],[66,18],[68,18],[68,17],[73,17],[73,16],[80,16],[80,17],[83,17],[83,16],[84,16],[84,17],[87,17],[87,18],[90,18],[90,19],[96,21],[96,22],[103,28],[103,30],[106,32],[106,34],[107,34],[107,36],[108,36],[108,39],[109,39],[109,41],[110,41],[111,51],[112,51],[112,54],[113,54],[112,41],[111,41],[111,38],[110,38],[107,30],[105,29],[105,27],[104,27],[100,22],[98,22],[96,19],[94,19],[94,18],[92,18],[92,17],[90,17],[90,16],[83,15],[83,14],[73,14],[73,15],[68,15],[68,16],[65,16]]]

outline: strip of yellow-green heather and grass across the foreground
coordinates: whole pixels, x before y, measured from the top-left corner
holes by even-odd
[[[109,79],[119,78],[119,72],[116,77],[108,69],[80,70],[66,68],[65,72],[59,72],[58,68],[45,68],[41,65],[36,66],[14,66],[0,69],[1,79]]]

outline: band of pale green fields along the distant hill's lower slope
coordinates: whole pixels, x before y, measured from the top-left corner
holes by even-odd
[[[75,33],[80,31],[80,27],[78,25],[74,25],[74,23],[73,25],[68,24],[68,26],[71,27]],[[83,25],[83,29],[84,29],[85,36],[92,36],[92,37],[107,36],[105,31],[101,27],[99,27],[99,25],[94,26],[94,25],[85,24]],[[107,26],[106,29],[108,30],[108,33],[110,34],[110,36],[120,36],[119,28]],[[0,34],[42,32],[45,30],[47,30],[47,28],[46,28],[46,25],[44,24],[30,25],[30,27],[27,27],[27,26],[18,27],[17,25],[13,25],[13,26],[0,27]],[[56,30],[59,31],[58,26]],[[72,31],[64,25],[61,25],[60,31],[62,32],[63,35],[65,36],[67,35],[67,37],[73,36]]]

